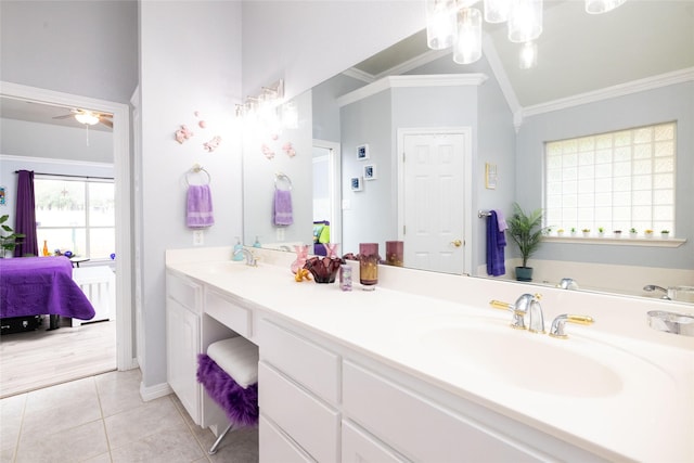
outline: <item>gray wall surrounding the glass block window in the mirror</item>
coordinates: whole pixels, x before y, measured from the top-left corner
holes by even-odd
[[[534,258],[672,269],[694,268],[694,82],[583,104],[527,118],[516,144],[516,197],[527,209],[542,206],[543,143],[677,120],[676,248],[545,243]]]

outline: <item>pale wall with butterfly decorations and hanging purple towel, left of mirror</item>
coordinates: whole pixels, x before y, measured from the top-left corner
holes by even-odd
[[[185,227],[185,173],[194,164],[210,175],[215,224],[205,246],[234,243],[242,231],[241,129],[234,104],[241,101],[241,3],[227,1],[142,1],[140,3],[140,92],[142,321],[145,342],[142,382],[166,383],[165,250],[193,245]],[[200,117],[195,116],[200,112]],[[198,120],[206,120],[203,129]],[[180,125],[195,136],[179,144]],[[214,136],[214,152],[203,143]]]

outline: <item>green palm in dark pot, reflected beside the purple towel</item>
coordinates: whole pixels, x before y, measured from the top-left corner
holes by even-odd
[[[516,267],[516,280],[532,281],[532,268],[528,259],[540,246],[547,228],[542,227],[542,209],[526,214],[517,203],[513,204],[513,215],[506,220],[507,233],[518,245],[523,266]]]

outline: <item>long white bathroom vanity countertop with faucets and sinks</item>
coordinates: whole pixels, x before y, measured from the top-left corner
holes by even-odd
[[[694,338],[683,340],[683,336],[657,332],[643,340],[613,334],[604,325],[597,330],[567,324],[568,339],[514,331],[507,327],[509,312],[478,303],[504,300],[504,296],[509,300],[511,293],[504,293],[509,284],[483,279],[457,276],[460,291],[470,292],[468,299],[475,301],[461,304],[385,287],[365,292],[359,284],[358,272],[352,273],[354,291],[342,292],[337,284],[297,283],[288,266],[261,261],[258,268],[250,268],[243,262],[191,260],[194,259],[167,258],[167,269],[235,295],[268,313],[607,460],[694,461]],[[224,266],[234,267],[224,270]],[[403,278],[411,275],[410,271]],[[511,286],[512,291],[518,291],[518,286]],[[557,297],[566,306],[565,294]],[[609,305],[616,304],[611,300]],[[663,306],[657,308],[665,310]],[[545,309],[548,330],[558,312]],[[616,318],[605,308],[593,317],[597,321]],[[646,325],[645,320],[642,323]],[[507,368],[486,371],[484,359],[465,362],[460,368],[455,356],[439,355],[440,350],[432,350],[424,343],[423,339],[432,337],[435,344],[439,343],[441,332],[436,330],[451,327],[481,334],[479,349],[485,355],[499,351],[499,344],[509,342]],[[651,329],[643,333],[651,336],[650,332],[655,333]],[[487,339],[490,344],[484,345]],[[543,359],[532,358],[526,345],[516,344],[526,340],[531,343],[528,347],[535,346],[539,352],[544,352],[547,346],[547,352],[568,357],[560,356],[557,362],[553,361],[553,353]],[[468,352],[471,358],[476,356],[474,350]],[[574,358],[576,362],[561,362]],[[606,376],[614,376],[615,381],[605,382],[604,390],[593,387],[591,382],[597,384],[597,380],[591,377],[576,377],[576,383],[587,382],[587,386],[562,383],[570,381],[576,373],[573,368],[578,369],[582,359],[588,359],[587,365],[593,368],[587,371],[600,373],[603,370],[596,368],[605,369]],[[513,376],[514,365],[524,364],[547,375],[538,387],[527,384],[536,381],[534,377]],[[566,393],[565,386],[576,390]]]

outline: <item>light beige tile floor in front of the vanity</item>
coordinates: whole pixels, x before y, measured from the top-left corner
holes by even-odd
[[[140,398],[140,370],[111,372],[0,400],[0,462],[257,462],[257,428],[209,429],[175,395]]]

